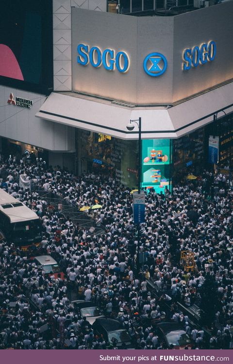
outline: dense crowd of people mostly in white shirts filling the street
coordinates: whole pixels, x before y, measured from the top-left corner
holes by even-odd
[[[21,174],[36,188],[59,195],[77,209],[99,204],[100,208],[85,214],[104,226],[105,232],[96,235],[62,209],[49,208],[37,189],[19,186]],[[231,348],[233,190],[231,181],[218,174],[215,181],[220,189],[211,196],[211,179],[211,173],[204,171],[195,182],[174,185],[172,194],[166,190],[159,195],[150,189],[140,232],[145,261],[137,275],[131,188],[106,175],[75,176],[25,155],[1,156],[0,187],[42,219],[41,247],[33,246],[33,254],[50,254],[65,278],[45,275],[24,251],[1,239],[0,348],[117,348],[114,340],[97,335],[70,304],[74,295],[92,301],[105,316],[118,320],[134,348],[165,348],[156,331],[156,322],[161,320],[182,325],[192,348]],[[194,253],[195,269],[185,270],[180,264],[181,251],[186,250]],[[186,308],[199,304],[209,277],[215,281],[217,304],[210,335],[205,337],[205,330],[192,326],[178,302]]]

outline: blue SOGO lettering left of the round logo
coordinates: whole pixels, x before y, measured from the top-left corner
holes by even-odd
[[[78,57],[77,62],[80,65],[86,66],[89,63],[93,67],[103,66],[108,71],[117,69],[121,73],[128,71],[130,60],[126,52],[106,49],[103,52],[99,47],[91,47],[86,44],[79,44],[77,47]]]

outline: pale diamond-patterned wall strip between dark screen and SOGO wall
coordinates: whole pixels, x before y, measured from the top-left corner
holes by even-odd
[[[53,0],[53,83],[55,91],[71,88],[71,6],[106,12],[106,0]]]

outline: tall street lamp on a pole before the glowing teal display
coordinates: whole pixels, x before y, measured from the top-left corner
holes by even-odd
[[[130,120],[129,124],[126,128],[132,132],[134,129],[135,123],[138,126],[138,193],[141,193],[141,158],[142,158],[142,131],[141,131],[141,117],[135,120]],[[140,272],[140,264],[139,264],[139,251],[140,251],[140,240],[141,240],[141,232],[140,232],[140,222],[137,223],[137,258],[136,258],[136,270],[137,276]]]

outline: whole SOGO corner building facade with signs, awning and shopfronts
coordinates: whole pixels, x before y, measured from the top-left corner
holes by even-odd
[[[69,161],[78,174],[133,187],[138,130],[126,125],[141,117],[142,185],[158,192],[199,173],[209,135],[219,137],[219,166],[231,165],[233,1],[163,17],[106,10],[106,1],[53,1],[53,92],[17,96],[2,86],[5,99],[38,102],[21,113],[26,136],[13,133],[16,107],[5,105],[12,118],[4,116],[0,135],[47,149],[52,165]]]

